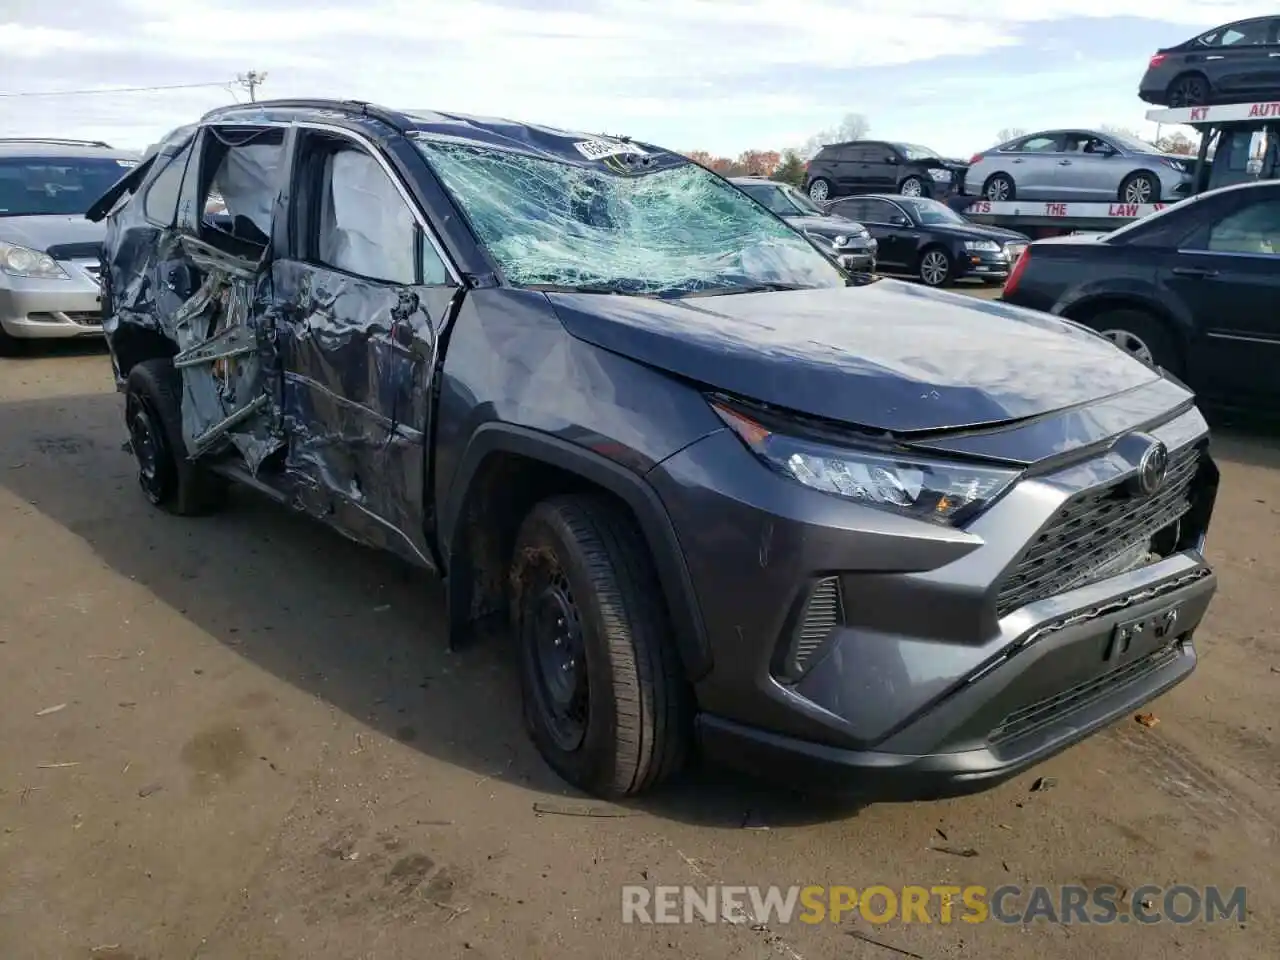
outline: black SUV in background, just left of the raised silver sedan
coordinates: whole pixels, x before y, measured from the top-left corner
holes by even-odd
[[[945,197],[965,178],[965,164],[915,143],[855,140],[829,143],[809,161],[805,193],[822,204],[850,193]]]

